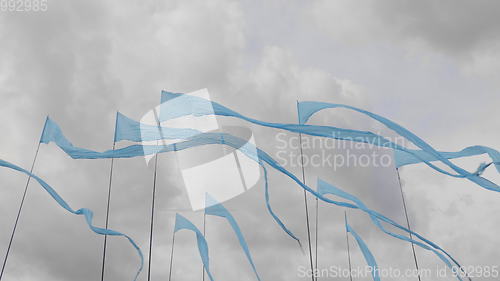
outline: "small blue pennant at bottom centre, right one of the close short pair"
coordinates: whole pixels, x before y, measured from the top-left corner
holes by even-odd
[[[241,248],[245,252],[245,256],[247,257],[248,262],[252,266],[253,272],[257,277],[257,280],[261,281],[259,274],[257,273],[257,269],[255,268],[255,264],[252,259],[252,255],[250,254],[250,249],[248,249],[248,244],[243,237],[243,233],[241,233],[241,229],[236,222],[236,219],[231,215],[231,213],[219,202],[217,202],[210,194],[206,194],[206,208],[205,214],[211,216],[223,217],[227,220],[229,225],[234,231],[236,237],[238,237],[238,241],[240,243]]]

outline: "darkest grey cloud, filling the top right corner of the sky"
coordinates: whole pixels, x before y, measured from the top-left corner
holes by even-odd
[[[445,53],[467,55],[500,38],[500,5],[494,1],[390,1],[373,9],[399,36],[421,39]]]

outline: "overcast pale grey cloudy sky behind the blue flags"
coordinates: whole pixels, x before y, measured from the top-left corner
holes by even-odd
[[[500,3],[495,1],[451,0],[49,0],[46,12],[1,12],[0,158],[29,168],[47,115],[76,145],[110,149],[117,110],[139,120],[158,104],[162,89],[201,88],[208,88],[213,100],[261,120],[296,122],[297,100],[346,103],[386,116],[440,150],[475,144],[498,149],[499,15]],[[257,145],[272,156],[298,153],[290,145],[295,144],[294,134],[278,137],[276,130],[219,119],[251,128]],[[322,112],[313,123],[390,135],[379,124],[347,111]],[[286,147],[281,147],[283,140]],[[325,150],[340,155],[349,151],[316,146],[304,154]],[[364,147],[353,153],[372,152]],[[473,169],[485,160],[456,163]],[[299,166],[284,164],[301,175]],[[40,147],[34,171],[75,209],[94,210],[96,224],[103,226],[109,166],[110,160],[72,160],[50,144]],[[307,165],[306,180],[314,187],[320,177],[406,223],[394,166],[375,166]],[[160,156],[159,171],[152,280],[168,278],[174,216],[185,204],[176,156]],[[224,175],[220,173],[211,176]],[[493,169],[485,176],[500,180]],[[464,265],[499,265],[498,193],[423,165],[402,168],[401,178],[416,232]],[[0,179],[3,261],[26,177],[2,169]],[[277,172],[271,171],[269,179],[274,210],[307,241],[302,191]],[[146,256],[152,184],[153,166],[144,159],[115,161],[110,227],[130,234]],[[273,222],[263,198],[261,179],[225,203],[240,223],[262,279],[310,280],[299,276],[308,257]],[[314,204],[310,198],[313,221]],[[343,211],[319,205],[320,268],[347,267]],[[201,228],[202,213],[182,214]],[[408,243],[382,234],[361,212],[351,210],[348,215],[380,266],[414,267]],[[255,280],[225,221],[208,217],[206,231],[216,280]],[[361,251],[350,239],[353,266],[364,266]],[[134,250],[124,239],[108,241],[105,279],[132,280],[139,262]],[[100,280],[102,243],[82,218],[62,210],[32,182],[2,280]],[[200,280],[192,233],[176,236],[174,253],[173,279]],[[425,250],[417,249],[416,255],[422,268],[443,267]],[[147,280],[145,273],[139,280]],[[448,274],[422,280],[454,279]]]

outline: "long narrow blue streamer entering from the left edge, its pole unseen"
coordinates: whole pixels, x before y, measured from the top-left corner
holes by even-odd
[[[21,168],[21,167],[19,167],[17,165],[14,165],[12,163],[4,161],[2,159],[0,159],[0,166],[1,167],[6,167],[6,168],[9,168],[9,169],[21,172],[21,173],[24,173],[24,174],[32,177],[33,179],[35,179],[43,187],[43,189],[45,189],[45,191],[47,191],[47,193],[57,202],[57,204],[59,204],[59,206],[61,206],[66,211],[68,211],[68,212],[70,212],[72,214],[84,216],[85,217],[85,221],[87,222],[88,227],[93,232],[95,232],[97,234],[100,234],[100,235],[110,235],[110,236],[122,236],[122,237],[125,237],[130,242],[130,244],[132,244],[132,246],[135,248],[135,250],[137,251],[137,255],[140,258],[140,267],[137,270],[137,273],[136,273],[136,275],[134,277],[134,281],[137,280],[137,277],[141,273],[143,265],[144,265],[144,257],[142,255],[141,249],[139,248],[139,246],[137,246],[137,244],[135,243],[135,241],[131,237],[129,237],[128,235],[123,234],[121,232],[112,230],[112,229],[105,229],[105,228],[100,228],[100,227],[94,226],[93,225],[94,213],[92,212],[92,210],[87,209],[87,208],[81,208],[81,209],[78,209],[78,210],[74,210],[73,208],[71,208],[71,206],[66,201],[64,201],[64,199],[55,191],[54,188],[52,188],[48,183],[46,183],[44,180],[42,180],[37,175],[35,175],[33,173],[30,173],[29,171],[27,171],[27,170],[25,170],[25,169],[23,169],[23,168]]]

